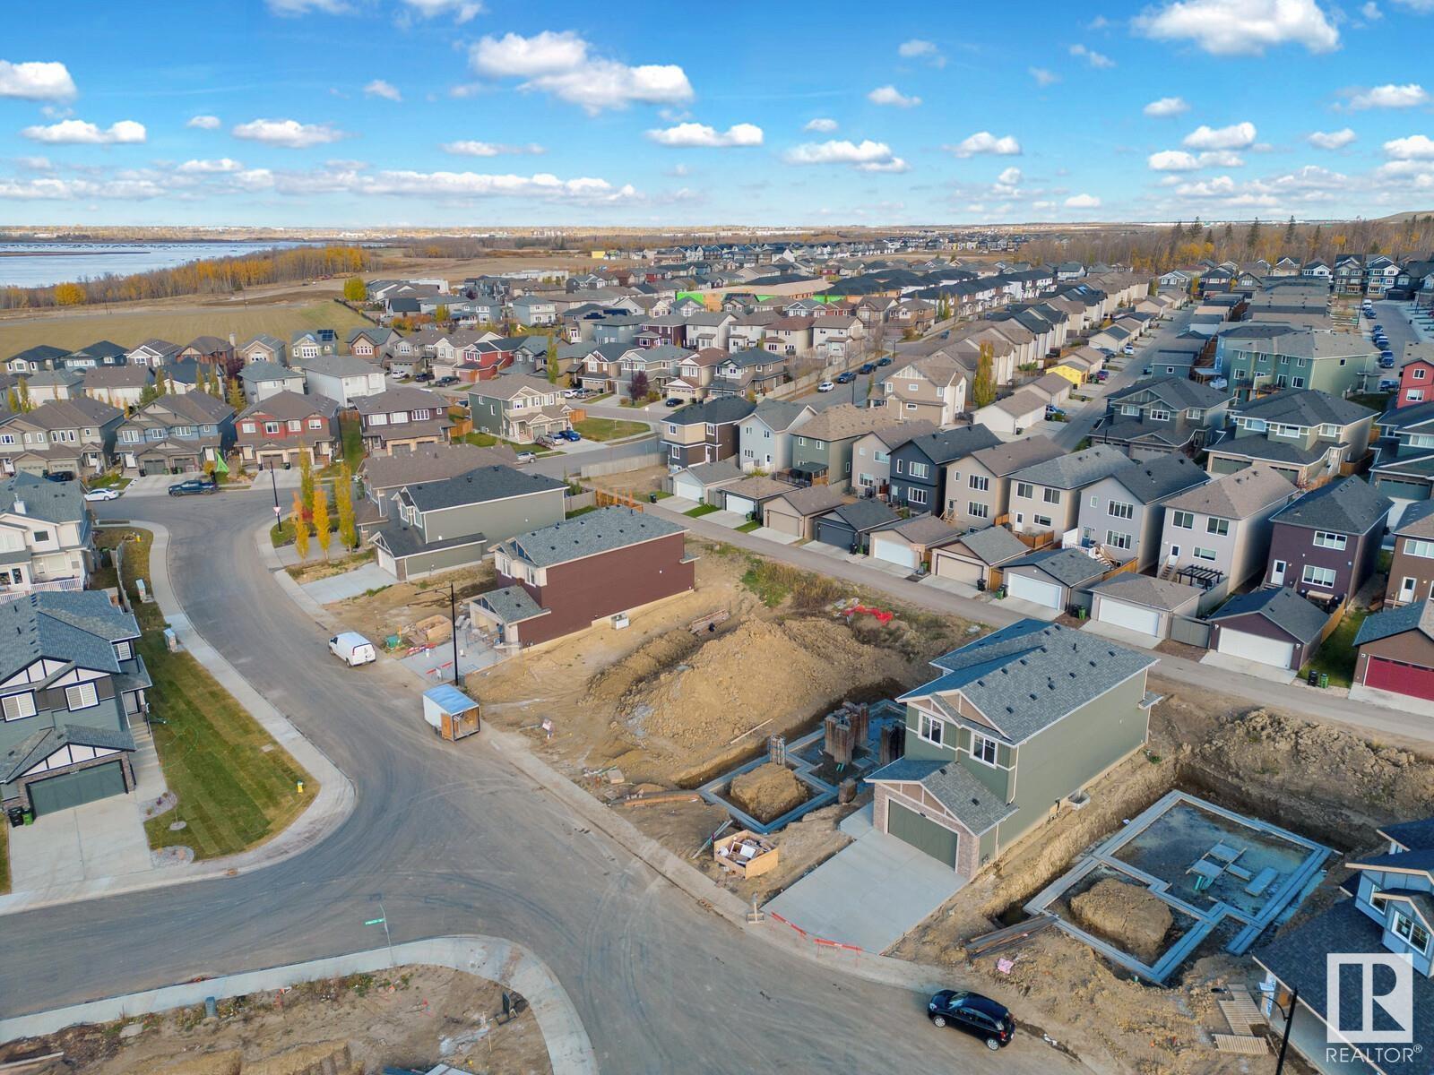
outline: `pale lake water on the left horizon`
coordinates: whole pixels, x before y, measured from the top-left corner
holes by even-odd
[[[128,277],[202,258],[232,258],[301,242],[0,242],[0,285]]]

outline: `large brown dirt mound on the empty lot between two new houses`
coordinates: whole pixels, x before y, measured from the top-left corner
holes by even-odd
[[[749,619],[635,682],[619,710],[640,734],[707,750],[764,721],[771,722],[764,734],[790,728],[862,684],[909,677],[902,654],[862,644],[842,622]]]

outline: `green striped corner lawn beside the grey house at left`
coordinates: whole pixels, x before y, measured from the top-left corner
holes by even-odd
[[[113,546],[119,530],[100,530],[98,543]],[[125,545],[125,579],[149,580],[151,535]],[[109,579],[100,576],[100,582]],[[139,654],[153,687],[149,704],[165,783],[179,797],[174,810],[145,823],[151,847],[184,844],[195,859],[235,854],[281,831],[313,797],[318,783],[260,727],[247,710],[189,654],[171,654],[163,618],[153,602],[136,605],[143,629]],[[304,793],[298,793],[298,783]],[[172,831],[175,821],[185,827]]]

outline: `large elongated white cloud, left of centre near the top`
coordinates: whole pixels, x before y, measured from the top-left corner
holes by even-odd
[[[693,86],[680,66],[632,67],[592,56],[588,43],[572,30],[483,37],[469,49],[469,66],[492,79],[523,77],[519,89],[551,93],[589,113],[631,103],[674,105],[693,99]]]

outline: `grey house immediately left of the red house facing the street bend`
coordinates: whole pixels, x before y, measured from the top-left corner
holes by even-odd
[[[115,454],[130,476],[204,470],[234,443],[234,407],[208,393],[161,396],[119,424]]]

